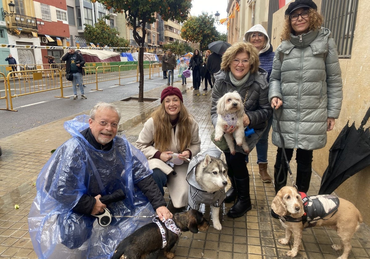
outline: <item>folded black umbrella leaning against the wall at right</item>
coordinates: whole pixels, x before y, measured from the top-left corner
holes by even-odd
[[[326,168],[319,194],[331,194],[345,180],[370,165],[370,132],[363,126],[370,117],[367,110],[359,129],[349,122],[329,150],[329,166]]]

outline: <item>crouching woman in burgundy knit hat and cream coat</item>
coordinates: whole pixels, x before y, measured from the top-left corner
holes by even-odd
[[[188,205],[188,159],[199,153],[201,140],[198,123],[189,115],[180,89],[163,89],[161,106],[145,122],[136,145],[147,157],[162,194],[166,185],[175,208]]]

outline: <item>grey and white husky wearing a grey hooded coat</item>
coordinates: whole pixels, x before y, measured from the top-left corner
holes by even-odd
[[[226,198],[227,171],[225,154],[218,149],[211,149],[192,159],[186,177],[190,184],[189,206],[199,209],[201,203],[212,205],[213,227],[217,230],[222,229],[219,211]]]

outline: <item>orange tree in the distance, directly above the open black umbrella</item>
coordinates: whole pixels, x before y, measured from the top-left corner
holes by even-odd
[[[192,16],[182,26],[181,38],[199,43],[201,50],[207,50],[208,44],[216,41],[219,35],[214,23],[215,18],[205,12],[199,16]]]

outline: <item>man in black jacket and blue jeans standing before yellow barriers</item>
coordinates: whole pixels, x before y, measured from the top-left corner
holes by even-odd
[[[61,58],[65,61],[65,73],[71,73],[73,75],[72,88],[73,88],[73,99],[77,99],[77,84],[81,91],[81,98],[87,99],[84,93],[84,84],[82,82],[83,65],[85,64],[85,59],[81,54],[78,54],[74,49],[68,50]]]

